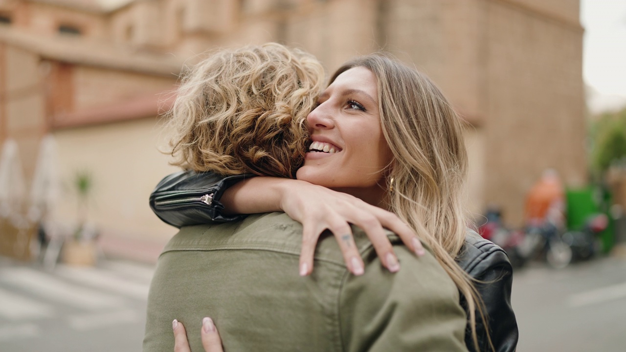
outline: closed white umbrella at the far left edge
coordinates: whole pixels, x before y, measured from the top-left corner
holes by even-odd
[[[26,185],[19,162],[18,143],[8,139],[0,157],[0,217],[18,216],[25,198]]]

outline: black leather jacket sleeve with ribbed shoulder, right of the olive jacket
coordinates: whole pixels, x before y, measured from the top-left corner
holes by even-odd
[[[517,346],[519,331],[515,313],[511,307],[511,286],[513,267],[506,252],[493,242],[483,239],[469,230],[463,251],[457,263],[469,276],[476,279],[476,290],[485,304],[485,318],[488,322],[491,343],[496,352],[513,352]],[[461,305],[467,311],[466,301]],[[468,314],[469,315],[469,314]],[[478,310],[476,311],[476,333],[480,351],[491,351],[487,342],[486,329]],[[469,351],[475,351],[471,330],[467,328],[465,342]]]

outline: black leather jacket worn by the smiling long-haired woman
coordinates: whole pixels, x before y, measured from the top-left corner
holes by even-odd
[[[231,185],[245,175],[221,177],[214,173],[177,172],[165,177],[150,195],[150,207],[167,224],[175,227],[240,220],[245,215],[224,215],[220,198]],[[459,266],[476,279],[478,294],[485,303],[491,343],[496,352],[513,352],[517,346],[518,328],[511,308],[513,268],[505,251],[468,230],[458,258]],[[467,311],[463,298],[461,305]],[[476,316],[479,316],[476,313]],[[486,329],[480,318],[476,322],[480,351],[490,351]],[[465,343],[476,351],[468,329]]]

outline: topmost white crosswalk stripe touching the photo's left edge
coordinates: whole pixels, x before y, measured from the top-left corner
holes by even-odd
[[[43,298],[83,309],[111,308],[123,304],[121,298],[111,294],[69,284],[26,267],[0,269],[0,281],[27,289]]]

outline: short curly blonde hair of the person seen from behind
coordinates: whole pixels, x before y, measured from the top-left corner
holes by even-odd
[[[220,49],[188,72],[166,128],[172,165],[220,175],[295,177],[324,69],[277,43]]]

